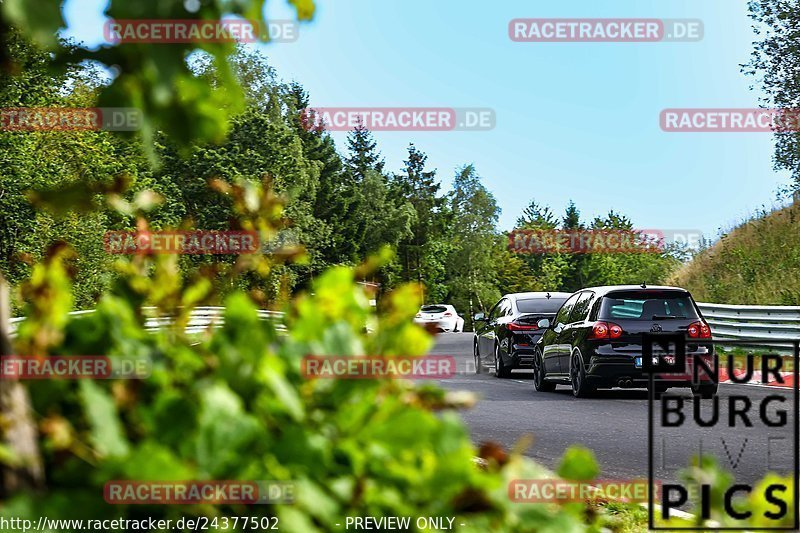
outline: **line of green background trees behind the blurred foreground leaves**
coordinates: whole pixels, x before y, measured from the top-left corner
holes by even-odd
[[[70,46],[67,48],[70,48]],[[0,105],[95,106],[108,80],[86,64],[54,74],[46,52],[17,31],[7,35],[13,72],[2,74]],[[93,307],[114,283],[116,257],[103,248],[107,231],[148,228],[237,229],[232,202],[212,192],[222,180],[260,183],[285,205],[284,222],[268,236],[265,251],[300,254],[302,260],[271,271],[266,280],[242,276],[216,284],[219,303],[234,288],[255,290],[265,306],[279,307],[327,268],[356,266],[394,253],[362,281],[380,284],[380,295],[403,283],[423,287],[417,301],[450,303],[465,316],[486,311],[501,294],[577,290],[613,283],[659,283],[680,254],[540,254],[508,251],[497,227],[500,209],[470,163],[454,170],[450,190],[427,155],[410,144],[402,168],[390,170],[366,129],[350,133],[340,152],[323,130],[308,129],[301,111],[310,96],[298,83],[283,83],[267,59],[239,49],[229,58],[245,107],[227,120],[228,135],[214,143],[183,141],[166,132],[153,141],[115,132],[0,132],[0,269],[18,286],[44,256],[43,243],[63,241],[76,255],[74,305]],[[212,56],[192,56],[197,79],[219,91],[230,81]],[[154,159],[152,159],[154,158]],[[517,229],[632,229],[617,212],[585,222],[570,203],[563,217],[531,200]],[[190,273],[230,265],[230,257],[182,257]],[[15,312],[22,301],[15,299]]]

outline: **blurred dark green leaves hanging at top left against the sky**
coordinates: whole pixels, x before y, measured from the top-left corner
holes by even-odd
[[[312,0],[291,0],[299,20],[314,15]],[[219,20],[223,15],[240,15],[263,24],[263,0],[215,0],[202,2],[190,12],[182,0],[115,1],[105,13],[112,19],[206,19]],[[26,28],[39,45],[54,52],[53,67],[65,68],[81,61],[114,67],[114,79],[100,91],[99,103],[108,107],[135,107],[144,112],[140,131],[149,147],[156,131],[164,131],[181,147],[191,142],[221,141],[230,125],[229,118],[244,109],[244,93],[227,58],[233,43],[175,43],[158,46],[149,43],[120,43],[90,50],[68,47],[56,39],[65,24],[60,0],[8,0],[0,4],[0,36],[9,26]],[[198,78],[189,68],[186,57],[200,49],[214,58],[217,76],[224,88]],[[13,55],[11,56],[13,58]],[[17,65],[0,62],[3,68]]]

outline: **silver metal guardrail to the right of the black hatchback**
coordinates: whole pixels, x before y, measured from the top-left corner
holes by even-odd
[[[800,339],[800,306],[700,303],[715,339],[770,342],[791,348]]]

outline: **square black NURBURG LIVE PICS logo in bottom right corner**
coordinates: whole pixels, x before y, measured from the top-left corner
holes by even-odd
[[[725,340],[722,356],[720,342],[643,335],[643,369],[650,374],[650,529],[707,531],[708,522],[716,522],[714,530],[797,531],[800,341],[793,342],[791,375],[782,370],[790,361],[776,353],[777,342],[746,357],[730,351],[747,347],[746,341]],[[694,394],[664,392],[656,399],[656,385],[671,379],[691,380]],[[719,387],[721,381],[731,385]],[[680,510],[705,527],[668,522]]]

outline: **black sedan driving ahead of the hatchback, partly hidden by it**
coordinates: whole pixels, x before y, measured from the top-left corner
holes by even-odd
[[[533,348],[544,331],[538,322],[553,318],[572,293],[520,292],[506,294],[488,315],[473,317],[475,372],[494,368],[494,374],[507,378],[515,368],[531,368]]]

